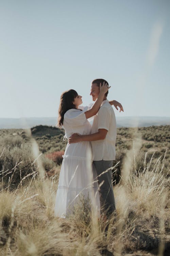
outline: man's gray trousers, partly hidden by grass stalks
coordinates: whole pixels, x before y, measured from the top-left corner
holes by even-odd
[[[99,190],[101,210],[103,208],[103,210],[106,211],[107,217],[109,217],[113,213],[116,214],[115,198],[114,198],[113,185],[112,185],[112,170],[107,171],[101,176],[100,174],[113,166],[113,160],[112,161],[105,161],[105,160],[93,161],[93,164],[97,172],[98,184],[100,185],[102,181],[104,181],[104,183],[101,185]]]

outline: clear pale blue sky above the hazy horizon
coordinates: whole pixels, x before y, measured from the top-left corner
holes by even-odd
[[[170,116],[169,0],[0,0],[0,118],[55,117],[104,78],[117,116]]]

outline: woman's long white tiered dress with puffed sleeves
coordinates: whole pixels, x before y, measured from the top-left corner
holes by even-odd
[[[69,109],[64,115],[63,127],[68,139],[73,133],[87,135],[91,132],[91,125],[86,119],[85,111],[88,107]],[[93,206],[100,215],[100,199],[97,182],[97,173],[92,166],[90,142],[67,144],[56,193],[54,216],[65,217],[71,207],[78,202],[79,195],[93,196]],[[94,205],[95,204],[95,205]]]

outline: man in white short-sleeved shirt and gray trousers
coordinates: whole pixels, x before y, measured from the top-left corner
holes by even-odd
[[[108,84],[104,79],[95,79],[92,81],[90,95],[92,96],[93,101],[97,99],[102,83]],[[116,101],[109,102],[107,100],[107,94],[108,92],[105,93],[101,107],[94,117],[91,134],[73,134],[68,142],[91,142],[94,157],[93,163],[97,171],[98,182],[99,184],[102,184],[100,187],[101,206],[106,212],[107,217],[110,217],[116,210],[112,186],[112,170],[109,169],[113,166],[113,160],[115,160],[116,156],[116,118],[111,105],[116,105],[116,108],[119,106],[120,111],[123,111],[123,108],[122,105]],[[109,170],[104,172],[107,169]]]

